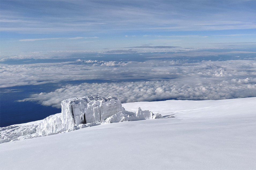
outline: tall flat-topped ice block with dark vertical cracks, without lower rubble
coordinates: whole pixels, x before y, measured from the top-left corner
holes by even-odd
[[[116,97],[83,96],[61,102],[62,129],[74,125],[101,122],[109,116],[125,110]]]

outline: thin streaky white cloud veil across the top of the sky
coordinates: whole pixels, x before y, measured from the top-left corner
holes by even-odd
[[[49,6],[51,10],[49,12]],[[255,29],[255,2],[65,1],[1,3],[1,31],[18,33]],[[67,8],[67,6],[69,8]],[[194,8],[191,8],[193,6]],[[24,10],[29,8],[29,10]],[[38,11],[40,10],[40,13]],[[34,14],[34,15],[32,15]]]

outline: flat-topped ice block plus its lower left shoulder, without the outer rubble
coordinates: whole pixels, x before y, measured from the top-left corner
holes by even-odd
[[[82,96],[61,102],[61,114],[51,115],[36,128],[38,135],[51,135],[72,130],[78,124],[102,122],[125,110],[116,97]]]

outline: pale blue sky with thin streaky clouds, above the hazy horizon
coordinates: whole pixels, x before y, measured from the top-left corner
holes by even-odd
[[[1,53],[255,42],[255,6],[256,1],[1,1]]]

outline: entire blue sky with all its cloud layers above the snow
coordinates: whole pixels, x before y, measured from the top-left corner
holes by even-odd
[[[0,8],[1,124],[20,103],[32,114],[29,105],[60,108],[85,95],[123,103],[256,97],[256,1],[1,1]]]

